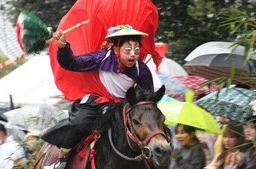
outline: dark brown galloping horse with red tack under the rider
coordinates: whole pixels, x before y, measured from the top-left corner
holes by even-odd
[[[128,89],[126,99],[102,110],[92,134],[69,154],[65,169],[168,168],[171,136],[157,108],[164,92],[165,86],[153,94],[139,86]],[[50,165],[57,156],[56,146],[45,143],[35,168]]]

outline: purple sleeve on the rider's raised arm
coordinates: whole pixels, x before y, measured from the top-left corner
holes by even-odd
[[[67,43],[66,47],[58,48],[57,60],[59,65],[68,71],[93,71],[99,68],[106,53],[107,51],[105,50],[99,50],[75,56],[72,53],[70,44]]]

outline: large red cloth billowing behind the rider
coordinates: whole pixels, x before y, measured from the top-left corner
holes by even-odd
[[[91,23],[66,34],[66,41],[71,44],[75,55],[99,50],[102,42],[105,41],[108,28],[111,26],[130,24],[134,29],[149,35],[148,38],[142,39],[142,54],[139,59],[144,60],[148,53],[153,55],[153,59],[158,57],[154,51],[158,12],[150,0],[78,0],[70,11],[62,17],[58,29],[69,29],[84,20],[91,20]],[[94,80],[91,80],[91,77],[95,77],[95,72],[78,73],[61,68],[56,61],[56,50],[57,46],[53,41],[49,48],[50,64],[56,86],[66,99],[74,101],[88,94],[87,92],[99,92],[100,95],[106,95],[105,91],[102,92],[105,89],[101,86],[102,84],[93,84]],[[107,97],[109,95],[108,93]]]

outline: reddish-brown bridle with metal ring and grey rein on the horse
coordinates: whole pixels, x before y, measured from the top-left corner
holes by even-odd
[[[166,138],[168,143],[171,142],[170,135],[166,131],[162,131],[160,129],[152,131],[151,134],[149,134],[145,138],[145,140],[139,140],[139,138],[136,136],[136,133],[133,131],[133,125],[132,125],[132,122],[130,120],[129,113],[130,113],[131,110],[133,110],[134,107],[137,107],[137,106],[142,105],[142,104],[156,104],[156,103],[154,101],[140,101],[140,102],[134,104],[133,106],[130,106],[130,104],[127,103],[123,107],[123,123],[124,123],[124,128],[125,128],[125,133],[126,133],[128,144],[129,144],[130,148],[133,149],[133,151],[135,151],[135,152],[137,152],[137,151],[132,146],[131,141],[133,141],[133,143],[135,143],[135,145],[139,146],[139,149],[142,152],[141,155],[138,155],[135,158],[130,158],[130,157],[127,157],[126,155],[123,155],[122,153],[120,153],[114,147],[114,143],[113,143],[113,140],[112,140],[112,137],[111,137],[111,128],[108,128],[108,137],[109,137],[109,141],[111,143],[112,148],[122,158],[125,158],[126,160],[130,160],[130,161],[142,161],[144,159],[150,159],[152,157],[152,153],[151,153],[151,149],[147,146],[147,144],[151,140],[151,138],[156,136],[157,134],[162,134],[163,137]]]

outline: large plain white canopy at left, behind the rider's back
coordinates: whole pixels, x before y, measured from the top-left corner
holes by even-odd
[[[59,99],[50,99],[58,91],[47,54],[34,56],[28,62],[0,79],[0,101],[14,104],[55,104]]]

